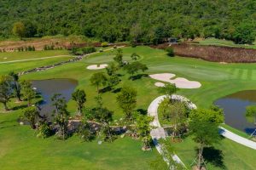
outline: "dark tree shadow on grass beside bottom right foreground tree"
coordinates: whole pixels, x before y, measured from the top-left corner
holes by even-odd
[[[215,149],[212,146],[206,147],[203,150],[203,157],[207,163],[212,163],[212,165],[216,167],[221,167],[221,169],[226,169],[224,165],[224,155],[222,150]]]

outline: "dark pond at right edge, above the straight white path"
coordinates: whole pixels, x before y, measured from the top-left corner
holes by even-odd
[[[241,91],[230,94],[214,102],[224,109],[224,122],[246,133],[253,133],[255,125],[247,122],[246,107],[256,105],[256,90]]]

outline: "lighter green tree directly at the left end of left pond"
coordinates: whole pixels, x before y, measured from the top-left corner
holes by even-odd
[[[23,80],[20,82],[21,85],[21,94],[23,94],[24,98],[27,100],[27,105],[30,106],[32,103],[32,99],[36,97],[36,92],[32,88],[32,83]]]

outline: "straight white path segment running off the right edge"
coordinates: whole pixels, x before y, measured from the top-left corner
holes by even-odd
[[[224,127],[219,127],[220,131],[219,133],[223,135],[225,138],[233,140],[234,142],[238,144],[245,145],[249,148],[252,148],[253,150],[256,150],[256,142],[253,142],[252,140],[242,138],[241,136],[237,135],[236,133],[232,133],[229,130],[225,129]]]

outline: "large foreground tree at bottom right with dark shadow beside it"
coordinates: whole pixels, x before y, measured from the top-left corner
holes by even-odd
[[[218,143],[218,124],[223,122],[224,115],[219,111],[193,110],[189,114],[189,134],[198,144],[197,167],[201,169],[203,162],[203,150],[206,146]]]

